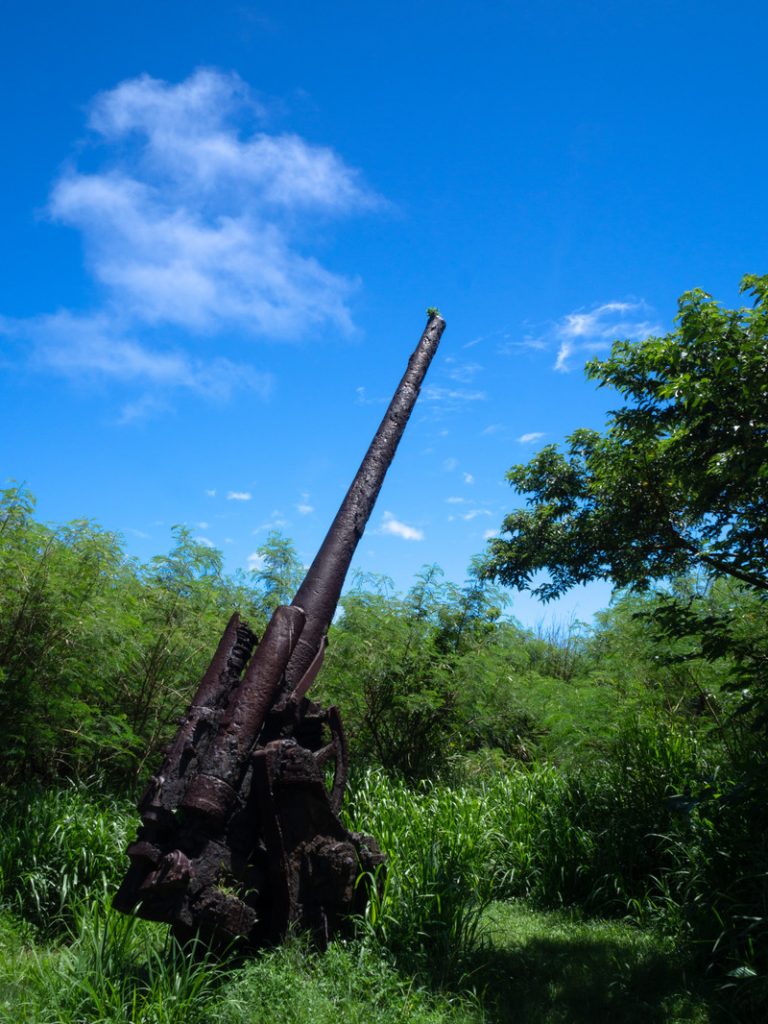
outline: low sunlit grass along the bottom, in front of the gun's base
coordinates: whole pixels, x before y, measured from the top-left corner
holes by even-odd
[[[305,938],[222,964],[190,955],[165,929],[83,907],[68,942],[42,946],[0,915],[3,1024],[459,1024],[480,1022],[471,995],[430,993],[383,950]]]

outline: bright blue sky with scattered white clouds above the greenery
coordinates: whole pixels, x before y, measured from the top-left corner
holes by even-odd
[[[604,422],[585,360],[766,271],[767,30],[707,0],[7,0],[0,475],[142,558],[186,523],[232,569],[270,528],[309,560],[436,304],[356,565],[461,581],[508,467]]]

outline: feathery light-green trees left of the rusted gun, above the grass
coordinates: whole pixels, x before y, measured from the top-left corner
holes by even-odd
[[[114,534],[34,510],[25,487],[0,490],[0,775],[125,782],[173,733],[231,612],[259,609],[183,527],[139,565]]]

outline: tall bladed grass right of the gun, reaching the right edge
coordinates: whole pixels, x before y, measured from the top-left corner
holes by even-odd
[[[767,817],[691,733],[652,725],[568,772],[419,790],[369,772],[351,807],[389,856],[368,928],[433,976],[463,969],[490,901],[524,897],[659,927],[743,1007],[768,1004]]]

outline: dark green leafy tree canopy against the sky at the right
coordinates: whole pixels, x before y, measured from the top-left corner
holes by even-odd
[[[670,334],[615,341],[587,365],[624,403],[603,432],[577,430],[564,452],[509,470],[527,507],[490,541],[484,575],[544,600],[696,568],[768,590],[768,275],[740,291],[752,306],[687,292]]]

